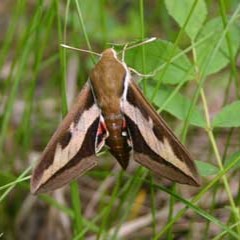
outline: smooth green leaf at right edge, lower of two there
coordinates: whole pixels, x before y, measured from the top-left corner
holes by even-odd
[[[225,106],[213,119],[213,127],[240,127],[240,101]]]

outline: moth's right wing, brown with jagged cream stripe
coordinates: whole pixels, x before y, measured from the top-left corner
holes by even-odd
[[[132,80],[122,111],[135,161],[172,181],[199,186],[196,167],[188,151]]]

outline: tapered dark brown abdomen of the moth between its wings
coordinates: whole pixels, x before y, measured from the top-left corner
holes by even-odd
[[[128,133],[125,119],[122,114],[108,114],[104,116],[107,131],[109,133],[106,144],[110,147],[110,153],[118,160],[123,169],[129,162],[131,147],[128,144]]]

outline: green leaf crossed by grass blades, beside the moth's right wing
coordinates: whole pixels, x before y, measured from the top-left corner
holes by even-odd
[[[148,86],[147,88],[147,96],[149,98],[152,96],[154,88]],[[172,93],[172,89],[167,87],[161,87],[157,96],[154,99],[154,104],[158,107],[161,107],[162,104],[168,99],[168,97]],[[188,114],[189,107],[191,105],[191,100],[184,97],[180,93],[176,93],[174,97],[167,103],[164,107],[164,110],[177,117],[178,119],[185,120]],[[202,113],[199,111],[197,106],[193,107],[192,114],[189,119],[189,123],[195,126],[204,127],[205,121]]]

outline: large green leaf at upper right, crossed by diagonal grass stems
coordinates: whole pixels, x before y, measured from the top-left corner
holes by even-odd
[[[224,33],[224,26],[221,18],[215,18],[210,20],[202,29],[201,33],[198,35],[198,40],[209,36],[202,44],[196,47],[198,65],[203,75],[209,75],[218,72],[230,61],[229,49],[226,42],[226,37],[222,41],[220,48],[218,49],[215,56],[212,58],[213,51],[217,46],[219,40]],[[232,49],[233,56],[236,55],[239,48],[239,36],[240,28],[239,26],[231,25],[229,28],[229,41]],[[209,62],[211,60],[211,62]]]

